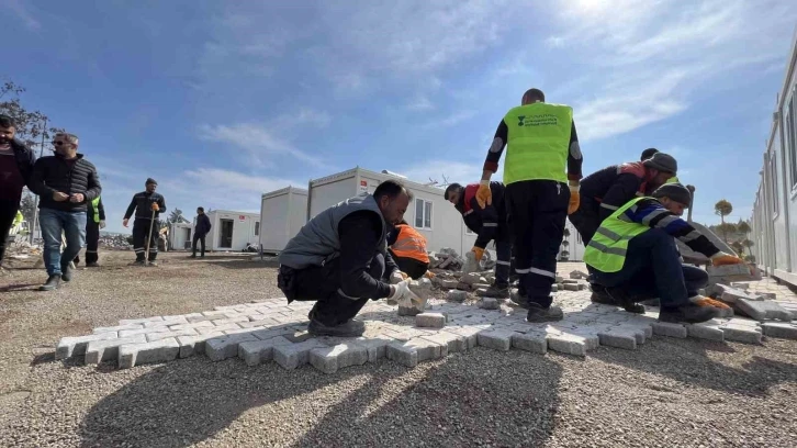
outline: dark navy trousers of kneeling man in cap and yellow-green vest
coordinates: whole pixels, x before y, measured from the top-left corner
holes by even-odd
[[[637,301],[659,298],[662,307],[689,303],[708,284],[708,273],[681,264],[675,238],[651,228],[628,242],[626,262],[617,272],[594,270],[595,282],[622,288]]]

